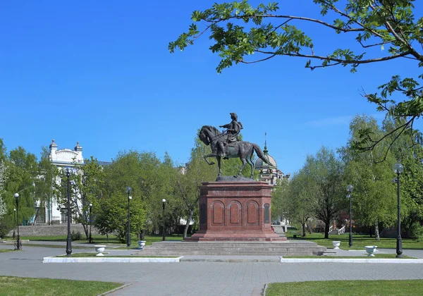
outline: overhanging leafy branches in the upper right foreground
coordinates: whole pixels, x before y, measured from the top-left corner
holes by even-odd
[[[169,43],[168,49],[171,52],[177,48],[184,50],[200,36],[209,34],[214,42],[210,50],[221,57],[216,68],[218,73],[233,64],[258,63],[278,56],[305,58],[305,66],[311,70],[350,66],[353,73],[362,64],[398,58],[415,61],[417,68],[423,66],[423,18],[414,15],[415,0],[313,2],[320,6],[321,18],[278,13],[276,2],[257,7],[252,7],[247,0],[214,4],[205,11],[192,13],[192,21],[204,25],[202,29],[193,23],[188,32]],[[341,47],[340,41],[340,48],[325,52],[300,29],[302,25],[308,29],[326,28],[339,35],[342,33],[350,36],[351,42]],[[326,34],[326,31],[321,32],[324,32],[322,36]],[[342,43],[345,43],[344,39]],[[357,46],[358,50],[354,51]],[[394,74],[379,87],[380,92],[364,93],[364,97],[376,104],[379,111],[406,118],[403,125],[397,127],[399,132],[406,132],[423,113],[423,87],[419,86],[422,78],[423,75],[400,78]],[[389,99],[396,92],[403,101],[397,103]],[[371,150],[384,139],[386,135],[375,138],[371,130],[362,130],[356,147]]]

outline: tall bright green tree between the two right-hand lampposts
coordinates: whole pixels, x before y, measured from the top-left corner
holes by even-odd
[[[350,123],[350,139],[340,152],[346,166],[345,183],[354,186],[351,194],[353,220],[357,225],[374,226],[376,240],[379,240],[379,223],[386,227],[396,224],[396,191],[392,183],[395,159],[389,150],[386,154],[384,147],[367,152],[357,151],[354,142],[360,137],[362,129],[371,130],[374,135],[384,133],[376,119],[355,116]],[[381,154],[386,154],[386,161],[376,161]]]

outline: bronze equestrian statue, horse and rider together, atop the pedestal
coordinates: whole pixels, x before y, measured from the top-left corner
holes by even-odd
[[[259,158],[266,164],[271,164],[269,159],[267,159],[262,152],[262,149],[260,149],[259,145],[238,140],[238,134],[240,133],[240,130],[243,129],[243,125],[238,121],[236,113],[229,114],[232,119],[231,123],[219,126],[219,128],[226,128],[226,131],[220,132],[217,128],[214,128],[211,125],[202,126],[198,137],[204,144],[207,146],[210,145],[212,148],[212,153],[204,155],[204,159],[207,161],[207,164],[213,165],[214,162],[210,162],[207,158],[216,158],[219,166],[219,178],[222,173],[221,158],[233,159],[239,157],[243,164],[238,170],[238,175],[235,175],[234,177],[240,177],[241,171],[243,171],[244,166],[248,163],[251,167],[250,178],[253,178],[255,164],[252,161],[252,155],[254,152],[256,152],[257,156],[259,156]]]

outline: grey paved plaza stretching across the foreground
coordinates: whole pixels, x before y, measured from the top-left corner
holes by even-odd
[[[0,248],[10,249],[13,246],[0,245]],[[92,252],[92,249],[87,251]],[[86,251],[74,249],[74,252]],[[124,254],[130,251],[114,252]],[[146,291],[148,295],[260,295],[266,283],[274,282],[423,279],[422,264],[286,264],[236,260],[180,263],[42,263],[43,257],[64,253],[65,249],[61,248],[27,245],[24,246],[23,252],[0,253],[0,275],[130,283],[126,288],[109,295],[140,295]],[[421,250],[405,250],[404,254],[423,258]]]

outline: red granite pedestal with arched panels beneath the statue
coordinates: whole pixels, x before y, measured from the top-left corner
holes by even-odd
[[[190,241],[283,241],[271,230],[266,182],[205,182],[200,186],[200,230]]]

